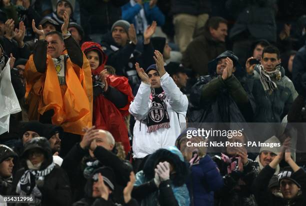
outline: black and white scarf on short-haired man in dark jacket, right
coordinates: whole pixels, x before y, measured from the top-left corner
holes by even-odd
[[[276,80],[279,80],[281,78],[279,68],[280,66],[276,66],[275,70],[266,71],[264,70],[262,65],[258,66],[261,85],[264,91],[268,91],[270,94],[274,89],[277,88],[276,83],[271,80],[271,77],[275,77]]]

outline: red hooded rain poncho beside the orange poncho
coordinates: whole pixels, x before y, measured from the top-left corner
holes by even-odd
[[[99,57],[102,59],[99,59],[100,65],[96,69],[91,69],[91,74],[93,76],[99,75],[99,73],[104,69],[107,60],[107,56],[101,49],[100,44],[86,41],[82,44],[81,49],[85,54],[91,50],[98,52]],[[130,150],[130,145],[123,117],[129,114],[128,107],[134,97],[126,77],[108,75],[106,81],[107,85],[112,86],[127,95],[127,104],[122,108],[117,108],[102,94],[98,95],[93,100],[92,124],[95,125],[96,128],[109,131],[113,135],[115,141],[122,142],[124,150],[127,153]]]

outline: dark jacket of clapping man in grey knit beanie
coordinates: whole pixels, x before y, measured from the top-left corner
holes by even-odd
[[[117,45],[109,32],[102,36],[101,45],[104,49],[103,51],[108,56],[106,64],[116,69],[116,75],[127,76],[131,85],[138,82],[138,76],[135,70],[136,62],[139,62],[143,68],[147,68],[154,63],[154,59],[152,58],[154,48],[151,43],[144,44],[143,52],[140,53],[135,50],[136,45],[133,43],[127,43],[124,47]]]

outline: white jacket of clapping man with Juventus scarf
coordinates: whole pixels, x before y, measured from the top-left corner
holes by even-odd
[[[160,77],[160,85],[166,96],[164,102],[167,106],[170,128],[147,132],[146,119],[151,106],[151,89],[149,84],[141,82],[128,109],[136,119],[133,129],[133,158],[143,158],[159,148],[174,146],[176,138],[186,128],[187,96],[180,91],[168,73]]]

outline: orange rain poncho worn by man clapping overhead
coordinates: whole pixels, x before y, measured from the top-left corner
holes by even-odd
[[[66,54],[66,50],[62,55]],[[90,65],[83,54],[83,65],[66,60],[65,84],[58,82],[55,66],[47,55],[45,73],[36,70],[33,55],[25,65],[26,101],[30,120],[38,120],[49,109],[54,110],[52,124],[64,131],[84,134],[83,127],[92,126],[92,80]]]

